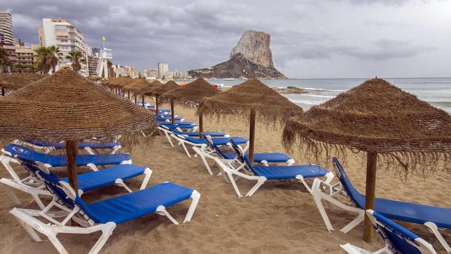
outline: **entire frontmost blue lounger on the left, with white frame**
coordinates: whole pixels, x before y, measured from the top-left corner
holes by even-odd
[[[67,250],[57,239],[58,233],[91,234],[101,231],[100,238],[89,252],[98,253],[117,224],[153,212],[166,216],[171,222],[178,224],[166,208],[191,198],[192,202],[183,223],[189,222],[200,198],[200,194],[196,190],[166,182],[122,196],[87,204],[68,183],[42,171],[38,172],[38,175],[52,193],[52,202],[42,211],[13,208],[10,213],[20,222],[34,241],[43,241],[36,231],[43,233],[60,253],[67,253]],[[61,211],[57,211],[57,213],[51,210],[52,208],[59,208]],[[54,219],[56,216],[64,219],[57,221]],[[44,222],[39,220],[39,217],[43,217]],[[81,226],[67,225],[71,219]]]

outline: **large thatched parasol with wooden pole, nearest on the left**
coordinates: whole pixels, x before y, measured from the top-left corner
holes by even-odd
[[[0,99],[0,142],[66,141],[70,185],[77,188],[77,141],[121,135],[132,146],[149,142],[154,115],[69,69],[31,83]],[[143,133],[146,133],[146,137]]]

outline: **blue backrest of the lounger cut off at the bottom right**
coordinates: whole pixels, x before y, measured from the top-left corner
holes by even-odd
[[[379,232],[385,245],[395,247],[401,253],[432,254],[436,253],[432,245],[415,235],[411,231],[401,227],[395,222],[388,220],[381,214],[367,210],[375,229]]]

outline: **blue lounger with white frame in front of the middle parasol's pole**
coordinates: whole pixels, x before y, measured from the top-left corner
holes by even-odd
[[[331,182],[334,178],[334,174],[332,172],[329,172],[317,165],[254,166],[249,162],[249,159],[244,156],[243,150],[236,142],[230,140],[230,143],[234,147],[234,151],[236,151],[237,160],[245,164],[244,172],[246,173],[239,172],[227,166],[219,159],[216,159],[215,161],[219,165],[222,175],[224,175],[224,180],[228,177],[228,181],[230,181],[233,185],[238,197],[242,197],[242,195],[235,183],[234,175],[247,180],[257,181],[249,192],[245,194],[246,197],[252,196],[252,194],[254,194],[254,192],[267,180],[297,179],[307,190],[311,191],[311,188],[304,180],[305,178],[326,177],[325,182],[327,183]]]

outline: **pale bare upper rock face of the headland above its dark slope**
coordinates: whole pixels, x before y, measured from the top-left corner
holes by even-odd
[[[271,36],[268,33],[253,30],[245,31],[232,49],[232,52],[230,52],[230,58],[241,53],[253,63],[264,67],[274,67],[270,42]]]

